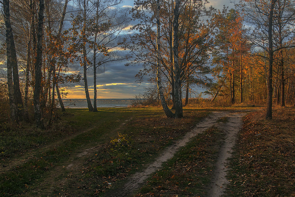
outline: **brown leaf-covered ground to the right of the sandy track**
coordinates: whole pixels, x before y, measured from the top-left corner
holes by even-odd
[[[294,117],[290,108],[275,108],[272,121],[247,115],[224,196],[295,196]]]

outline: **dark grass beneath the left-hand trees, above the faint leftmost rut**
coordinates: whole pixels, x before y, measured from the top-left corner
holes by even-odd
[[[46,130],[36,128],[33,123],[11,121],[0,123],[0,159],[3,161],[70,136],[75,128],[64,119],[60,117],[59,121],[55,121]]]

